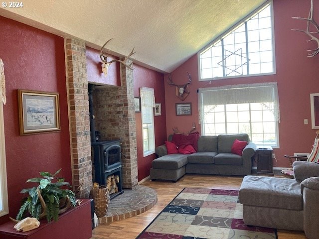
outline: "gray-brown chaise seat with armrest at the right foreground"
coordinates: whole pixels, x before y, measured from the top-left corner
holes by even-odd
[[[319,238],[319,164],[296,161],[295,179],[245,176],[239,190],[246,225],[305,231]]]

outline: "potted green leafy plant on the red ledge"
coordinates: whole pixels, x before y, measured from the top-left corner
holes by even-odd
[[[22,206],[16,216],[16,220],[25,217],[25,213],[38,220],[45,218],[48,222],[58,220],[59,214],[68,210],[70,206],[76,206],[76,197],[72,190],[63,189],[70,187],[64,178],[54,177],[61,171],[59,169],[54,174],[49,172],[40,172],[42,178],[30,178],[26,182],[38,183],[37,187],[22,189],[21,193],[28,193],[29,196],[24,199]]]

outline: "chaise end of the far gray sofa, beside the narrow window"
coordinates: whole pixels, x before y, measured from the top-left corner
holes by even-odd
[[[167,154],[152,161],[150,177],[152,180],[171,180],[176,182],[185,175],[186,154]]]

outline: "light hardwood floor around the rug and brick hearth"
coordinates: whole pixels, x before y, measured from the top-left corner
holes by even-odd
[[[161,212],[161,210],[185,187],[234,189],[240,188],[243,177],[185,175],[176,183],[146,181],[144,186],[154,188],[158,203],[149,211],[126,220],[100,224],[93,230],[91,239],[135,239]],[[278,239],[307,239],[303,232],[278,230]]]

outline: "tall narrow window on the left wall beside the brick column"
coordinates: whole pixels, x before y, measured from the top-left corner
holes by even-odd
[[[148,156],[155,153],[155,131],[154,115],[155,107],[154,89],[142,87],[141,94],[141,112],[142,112],[142,137],[143,137],[143,155]]]

